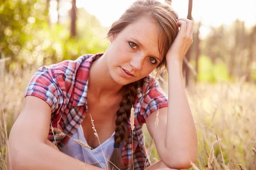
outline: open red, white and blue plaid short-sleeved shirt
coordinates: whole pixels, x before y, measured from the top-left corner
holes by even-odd
[[[87,88],[88,73],[93,60],[102,56],[100,54],[87,54],[75,61],[65,60],[58,64],[42,66],[36,71],[29,82],[25,96],[37,96],[49,104],[52,110],[52,127],[61,129],[71,136],[81,124],[87,114]],[[142,88],[137,88],[137,97],[134,103],[134,125],[133,150],[134,169],[142,170],[145,160],[148,159],[146,152],[142,125],[147,117],[157,108],[168,106],[166,94],[159,88],[157,81],[152,77],[144,78]],[[128,122],[130,124],[130,120]],[[125,170],[132,168],[132,137],[131,127],[128,140],[122,143],[120,148]],[[56,140],[58,147],[64,146],[69,139],[67,136],[55,135],[51,130],[48,139],[51,142]],[[149,165],[150,163],[148,163]]]

